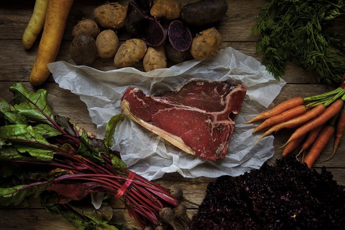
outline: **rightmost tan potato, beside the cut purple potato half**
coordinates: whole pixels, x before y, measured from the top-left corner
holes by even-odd
[[[195,59],[203,59],[215,54],[221,45],[221,34],[214,27],[196,34],[190,46],[190,53]]]

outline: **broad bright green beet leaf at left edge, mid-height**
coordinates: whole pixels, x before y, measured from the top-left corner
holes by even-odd
[[[25,124],[0,126],[0,139],[10,141],[19,152],[28,152],[40,160],[51,160],[58,146],[50,144],[42,135]]]

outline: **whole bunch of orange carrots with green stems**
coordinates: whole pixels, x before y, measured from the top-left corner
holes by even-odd
[[[333,151],[328,159],[334,155],[340,143],[345,130],[344,100],[345,86],[341,84],[326,93],[285,100],[245,123],[261,121],[253,133],[263,130],[264,133],[255,143],[282,128],[294,128],[289,139],[281,146],[282,156],[291,153],[301,144],[297,155],[303,153],[302,161],[311,167],[333,133],[335,133]]]

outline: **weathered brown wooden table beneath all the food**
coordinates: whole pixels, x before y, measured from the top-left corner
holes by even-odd
[[[90,18],[93,9],[104,2],[100,0],[74,1],[57,60],[65,60],[72,63],[68,48],[71,42],[73,25],[81,17]],[[127,1],[119,0],[119,2],[126,5]],[[182,4],[187,2],[188,0],[181,0]],[[262,59],[262,54],[255,53],[255,42],[258,36],[252,35],[250,29],[255,23],[263,2],[264,0],[228,0],[229,8],[227,14],[217,27],[223,36],[222,47],[231,46],[255,57],[259,61]],[[25,50],[21,44],[21,36],[32,13],[33,5],[34,0],[16,0],[0,3],[0,21],[2,21],[0,23],[0,97],[7,101],[11,100],[13,96],[8,91],[8,87],[15,82],[22,82],[30,90],[45,88],[49,92],[48,102],[55,112],[70,117],[77,124],[94,132],[95,125],[91,122],[86,105],[77,95],[59,88],[51,76],[39,87],[32,87],[28,82],[28,75],[35,59],[38,42],[30,50]],[[124,33],[119,35],[121,41],[128,38]],[[112,58],[96,59],[90,66],[101,70],[114,68]],[[140,64],[135,67],[142,70]],[[296,95],[310,96],[334,88],[334,86],[318,84],[313,72],[303,70],[291,63],[288,63],[283,79],[287,81],[287,84],[273,101],[274,103]],[[275,135],[275,154],[269,160],[270,162],[280,157],[281,149],[278,149],[278,147],[287,140],[287,136],[288,132],[279,132]],[[332,141],[329,142],[323,154],[315,162],[315,168],[319,169],[323,165],[321,161],[329,156],[331,148]],[[334,179],[343,185],[345,185],[345,171],[343,170],[345,160],[342,156],[344,148],[345,144],[341,144],[334,157],[324,162],[324,165],[333,173]],[[177,173],[171,173],[165,174],[163,178],[158,179],[156,182],[166,187],[173,183],[178,183],[182,186],[187,199],[200,203],[205,195],[207,184],[212,180],[214,178],[183,178]],[[31,207],[29,208],[0,206],[0,229],[75,229],[74,226],[61,217],[51,216],[40,206],[38,199],[32,199],[30,202]],[[127,225],[127,229],[138,229],[135,221],[128,217],[126,210],[123,210],[120,202],[112,200],[112,207],[116,220],[124,222]],[[189,216],[196,211],[196,206],[188,206]]]

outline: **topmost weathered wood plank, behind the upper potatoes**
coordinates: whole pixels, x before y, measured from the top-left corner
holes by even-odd
[[[63,39],[71,40],[72,27],[82,17],[94,19],[93,9],[98,5],[105,3],[105,0],[75,0],[68,16]],[[127,6],[127,0],[118,0],[117,2]],[[190,0],[180,0],[185,5]],[[258,36],[250,32],[255,24],[263,0],[228,0],[228,11],[222,20],[215,24],[221,32],[225,41],[255,41]],[[34,6],[34,0],[16,3],[6,1],[0,5],[0,37],[2,39],[21,39],[22,32],[30,19]],[[165,27],[167,22],[161,21]],[[120,39],[128,39],[124,27],[118,29]],[[36,42],[37,43],[37,42]]]

